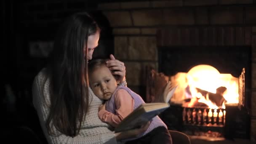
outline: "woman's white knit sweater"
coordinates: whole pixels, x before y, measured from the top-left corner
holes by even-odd
[[[40,120],[41,128],[49,144],[116,144],[114,132],[108,129],[107,123],[103,123],[98,117],[98,108],[101,100],[95,96],[89,88],[89,109],[85,117],[85,121],[81,126],[79,134],[75,137],[67,136],[60,133],[53,127],[53,131],[58,136],[50,136],[47,132],[45,123],[49,114],[50,107],[50,80],[46,75],[46,69],[42,69],[34,79],[32,85],[33,104]],[[68,83],[68,82],[63,82]]]

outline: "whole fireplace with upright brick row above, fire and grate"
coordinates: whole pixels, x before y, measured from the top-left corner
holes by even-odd
[[[241,29],[247,32],[246,27]],[[171,107],[160,114],[170,130],[208,140],[250,138],[251,45],[247,44],[248,35],[239,32],[235,27],[221,26],[171,27],[157,31],[158,69],[153,75],[148,70],[146,101],[155,101],[157,89],[163,87],[155,85],[152,76],[163,73],[166,80],[189,83],[176,90],[175,98],[170,100]],[[239,38],[244,43],[238,43]],[[187,76],[198,65],[213,69],[212,73],[204,72],[208,75],[202,78],[201,88],[191,86]],[[216,87],[213,75],[227,76],[224,79],[235,82],[235,89],[227,85]],[[206,89],[209,83],[215,87]],[[226,90],[236,97],[235,101],[227,102],[229,98],[223,93]],[[209,99],[211,102],[205,105]]]

